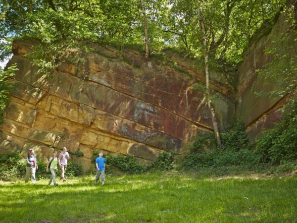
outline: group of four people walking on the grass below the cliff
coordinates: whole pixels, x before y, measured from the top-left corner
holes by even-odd
[[[69,159],[69,153],[67,152],[67,148],[63,147],[63,151],[58,156],[57,151],[53,151],[53,156],[49,159],[49,163],[47,165],[47,172],[50,171],[51,176],[49,179],[49,185],[51,181],[53,181],[53,185],[57,186],[58,183],[55,180],[55,171],[60,167],[61,168],[61,176],[60,180],[66,180],[65,172],[67,168],[67,160]],[[34,155],[34,150],[29,149],[28,156],[27,156],[27,166],[26,166],[26,176],[25,182],[29,181],[29,177],[31,175],[32,183],[35,183],[35,172],[38,169],[38,163],[36,155]],[[104,185],[105,180],[105,158],[103,158],[103,152],[99,152],[99,157],[96,159],[96,178],[95,178],[95,185],[97,185],[97,181],[101,176],[101,184]]]

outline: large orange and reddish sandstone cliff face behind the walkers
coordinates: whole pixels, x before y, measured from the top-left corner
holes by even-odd
[[[24,56],[32,45],[12,46],[8,66],[16,63],[18,71],[9,80],[14,87],[0,128],[1,153],[26,154],[34,148],[47,161],[53,148],[66,146],[72,154],[84,153],[72,159],[88,170],[99,149],[148,163],[160,151],[179,154],[199,131],[212,130],[202,92],[188,91],[187,106],[185,90],[204,81],[193,61],[171,54],[184,71],[179,72],[157,60],[144,66],[144,56],[136,51],[126,50],[120,59],[115,49],[94,45],[94,52],[73,52],[76,62],[60,63],[50,80]],[[222,95],[215,108],[224,125],[235,107],[233,87],[221,75],[211,72],[211,86]]]

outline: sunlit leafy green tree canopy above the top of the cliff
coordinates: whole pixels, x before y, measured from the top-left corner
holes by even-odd
[[[0,0],[0,59],[15,39],[37,39],[39,65],[52,68],[66,47],[83,40],[144,46],[140,0]],[[152,52],[177,47],[201,56],[203,16],[211,58],[238,62],[255,31],[286,0],[143,0]],[[46,55],[53,57],[47,58]],[[37,62],[38,63],[38,62]]]

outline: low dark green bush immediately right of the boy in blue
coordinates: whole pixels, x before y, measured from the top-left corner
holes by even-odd
[[[111,167],[117,167],[128,174],[139,174],[144,171],[144,168],[137,162],[133,156],[119,157],[106,156],[106,164]]]

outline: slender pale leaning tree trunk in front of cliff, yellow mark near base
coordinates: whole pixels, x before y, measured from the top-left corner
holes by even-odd
[[[203,53],[204,53],[204,65],[205,65],[205,82],[206,82],[206,101],[207,101],[207,106],[210,110],[211,113],[211,120],[212,120],[212,125],[213,125],[213,132],[214,136],[217,140],[218,146],[221,149],[222,148],[222,143],[221,143],[221,137],[219,134],[219,128],[218,128],[218,123],[216,120],[215,116],[215,111],[214,107],[211,103],[210,95],[209,95],[209,69],[208,69],[208,52],[207,52],[207,44],[206,44],[206,31],[205,31],[205,25],[204,21],[200,20],[200,26],[202,30],[202,35],[203,35]]]

